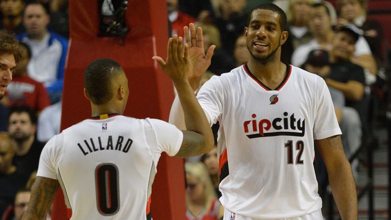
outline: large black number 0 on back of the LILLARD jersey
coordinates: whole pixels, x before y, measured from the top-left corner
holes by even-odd
[[[120,208],[119,173],[114,163],[101,163],[95,168],[96,201],[99,213],[114,215]]]

